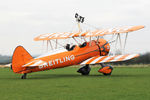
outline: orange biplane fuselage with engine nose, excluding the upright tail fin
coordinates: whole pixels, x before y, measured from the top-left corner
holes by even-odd
[[[106,40],[99,39],[99,42],[93,40],[87,42],[83,47],[76,45],[71,51],[66,50],[60,53],[31,59],[23,65],[22,70],[16,71],[13,69],[13,71],[23,74],[78,65],[88,58],[98,55],[107,55],[109,48],[109,43]]]

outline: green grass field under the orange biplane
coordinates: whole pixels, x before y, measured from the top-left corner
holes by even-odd
[[[28,74],[20,79],[0,68],[0,100],[150,100],[150,67],[118,67],[112,76],[81,76],[68,67]]]

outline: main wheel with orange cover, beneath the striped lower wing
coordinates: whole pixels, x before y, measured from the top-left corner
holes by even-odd
[[[113,70],[112,66],[105,65],[105,66],[102,66],[102,68],[99,69],[98,72],[103,73],[104,75],[108,76],[108,75],[111,75],[112,70]]]

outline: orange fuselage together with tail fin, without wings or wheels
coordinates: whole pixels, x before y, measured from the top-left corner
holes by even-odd
[[[98,43],[93,40],[91,43],[87,42],[86,46],[82,48],[76,45],[72,51],[33,59],[23,47],[19,46],[13,54],[12,69],[15,73],[23,74],[77,65],[88,58],[107,55],[109,49],[109,43],[104,39],[99,39]],[[31,66],[36,62],[39,65]]]

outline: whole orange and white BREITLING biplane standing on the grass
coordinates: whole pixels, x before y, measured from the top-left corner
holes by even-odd
[[[48,45],[51,48],[39,57],[33,58],[22,46],[16,47],[12,57],[11,68],[13,72],[23,74],[21,79],[26,79],[27,73],[82,65],[77,72],[82,75],[89,75],[91,70],[89,65],[100,64],[101,68],[98,72],[111,75],[113,67],[104,63],[125,61],[139,56],[139,54],[124,53],[120,34],[126,34],[125,47],[128,32],[142,29],[144,26],[83,31],[80,23],[84,22],[84,17],[76,14],[75,18],[79,27],[78,32],[47,33],[34,38],[35,41],[47,41],[47,49]],[[106,35],[112,35],[114,40],[107,41],[104,39]],[[65,43],[62,43],[62,40],[66,40]],[[119,50],[121,52],[119,54],[112,53],[111,45],[114,44],[116,48],[118,41],[120,42]]]

